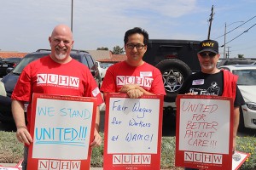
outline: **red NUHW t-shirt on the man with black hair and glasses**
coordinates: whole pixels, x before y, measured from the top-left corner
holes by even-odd
[[[138,84],[152,94],[166,95],[160,71],[144,62],[140,66],[128,65],[125,61],[110,66],[102,82],[102,92],[118,93],[125,84]]]

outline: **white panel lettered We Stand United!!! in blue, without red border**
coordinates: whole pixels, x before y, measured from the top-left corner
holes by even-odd
[[[38,99],[32,158],[87,159],[92,114],[92,102]]]

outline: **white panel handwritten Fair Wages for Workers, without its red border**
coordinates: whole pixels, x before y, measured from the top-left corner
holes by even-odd
[[[157,153],[160,99],[110,98],[108,154]]]

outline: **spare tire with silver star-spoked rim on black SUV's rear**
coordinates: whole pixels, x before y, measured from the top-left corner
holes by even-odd
[[[155,65],[162,73],[164,87],[166,89],[166,102],[174,102],[178,91],[183,85],[184,79],[192,71],[189,65],[180,59],[164,59]]]

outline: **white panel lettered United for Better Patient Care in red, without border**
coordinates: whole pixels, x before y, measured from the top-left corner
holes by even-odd
[[[229,100],[181,99],[179,150],[229,154],[229,112]]]

